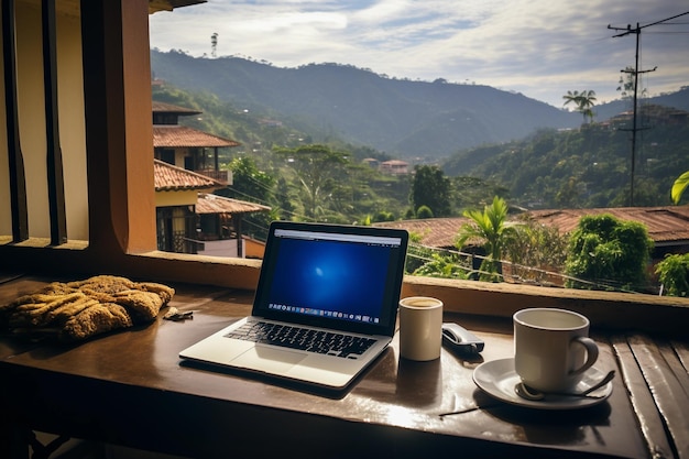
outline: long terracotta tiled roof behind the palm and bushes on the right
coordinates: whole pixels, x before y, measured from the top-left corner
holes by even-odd
[[[623,221],[644,223],[656,247],[689,243],[689,206],[626,207],[602,209],[531,210],[531,216],[543,225],[556,227],[561,233],[571,232],[584,215],[610,214]],[[512,218],[512,220],[517,220]],[[450,249],[466,218],[430,218],[376,223],[376,226],[404,228],[422,237],[428,247]]]

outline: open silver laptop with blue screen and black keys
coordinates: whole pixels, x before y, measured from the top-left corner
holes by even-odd
[[[182,359],[346,389],[390,345],[406,230],[274,221],[251,316]]]

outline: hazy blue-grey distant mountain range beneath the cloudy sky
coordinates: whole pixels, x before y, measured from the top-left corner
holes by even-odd
[[[287,117],[305,132],[417,162],[518,140],[540,128],[576,128],[582,122],[580,113],[522,94],[444,79],[389,78],[342,64],[281,68],[242,57],[193,57],[152,50],[151,66],[154,78],[182,89],[211,92],[238,109]],[[689,109],[689,89],[685,89],[661,96],[667,100],[657,103]],[[608,119],[626,106],[619,100],[594,110],[598,119]]]

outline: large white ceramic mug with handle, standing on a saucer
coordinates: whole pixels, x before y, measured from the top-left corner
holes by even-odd
[[[522,381],[538,391],[571,391],[598,359],[589,338],[589,319],[555,308],[514,314],[514,367]]]

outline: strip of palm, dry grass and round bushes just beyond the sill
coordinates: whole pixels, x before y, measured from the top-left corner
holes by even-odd
[[[571,234],[560,234],[527,219],[507,221],[506,203],[497,197],[482,211],[464,215],[469,221],[459,230],[458,251],[414,249],[415,259],[423,260],[413,266],[414,274],[562,285],[553,282],[551,274],[564,273],[564,286],[570,288],[657,293],[647,272],[654,244],[642,223],[588,216]],[[658,265],[656,274],[666,295],[687,295],[688,270],[687,255],[670,255]]]

